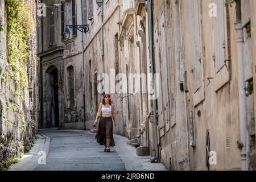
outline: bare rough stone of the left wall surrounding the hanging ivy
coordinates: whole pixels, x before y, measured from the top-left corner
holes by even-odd
[[[26,88],[17,96],[12,92],[13,78],[7,63],[7,27],[5,1],[0,3],[2,30],[0,31],[0,162],[6,158],[19,157],[24,147],[30,146],[30,140],[37,129],[37,92],[36,92],[36,7],[34,1],[26,1],[32,15],[32,32],[27,39],[27,64],[24,64],[27,77]],[[23,97],[23,99],[22,99]]]

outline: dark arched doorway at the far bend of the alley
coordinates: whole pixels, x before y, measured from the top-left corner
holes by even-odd
[[[59,127],[59,81],[56,67],[48,68],[46,73],[46,103],[47,127]]]

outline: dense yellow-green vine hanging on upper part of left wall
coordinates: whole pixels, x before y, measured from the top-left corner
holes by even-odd
[[[24,0],[5,0],[7,19],[7,65],[10,67],[10,92],[23,100],[27,88],[27,59],[29,56],[26,40],[29,38],[34,20]],[[6,80],[3,80],[6,81]]]

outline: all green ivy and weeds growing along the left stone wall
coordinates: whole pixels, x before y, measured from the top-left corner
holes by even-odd
[[[5,112],[11,109],[14,113],[20,115],[20,117],[18,116],[20,118],[18,122],[11,118],[5,118],[4,121],[22,130],[23,140],[18,143],[20,148],[19,157],[22,157],[24,152],[28,152],[28,149],[34,145],[36,140],[35,136],[32,137],[29,132],[26,133],[30,122],[26,122],[24,110],[20,110],[18,107],[23,101],[23,91],[28,88],[27,64],[28,57],[30,56],[30,43],[28,40],[31,32],[35,29],[35,24],[32,13],[33,7],[30,7],[30,3],[26,0],[5,0],[5,7],[6,25],[4,23],[4,26],[6,27],[3,26],[3,22],[0,20],[0,31],[6,31],[7,63],[5,68],[2,69],[0,67],[0,81],[2,83],[9,83],[10,93],[15,98],[19,98],[20,103],[18,104],[18,100],[14,98],[6,100],[5,108],[3,105],[0,105],[0,117],[3,116],[4,109]],[[6,157],[9,158],[9,155],[6,155]],[[8,169],[10,164],[16,163],[16,159],[15,157],[0,161],[0,171]]]

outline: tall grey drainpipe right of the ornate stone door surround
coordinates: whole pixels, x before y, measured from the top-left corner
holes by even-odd
[[[153,41],[153,11],[152,11],[152,0],[147,1],[147,7],[148,7],[148,42],[149,42],[149,51],[150,51],[150,73],[152,74],[151,76],[151,85],[152,89],[155,91],[155,81],[154,81],[154,56],[153,56],[153,46],[154,46],[154,41]],[[153,141],[152,141],[152,158],[150,158],[151,163],[155,163],[158,161],[159,154],[158,154],[158,118],[156,115],[156,100],[155,98],[151,100],[151,106],[153,106],[151,110],[151,117],[153,117],[153,126],[152,126],[152,131],[153,131]],[[153,114],[153,115],[152,115]]]

